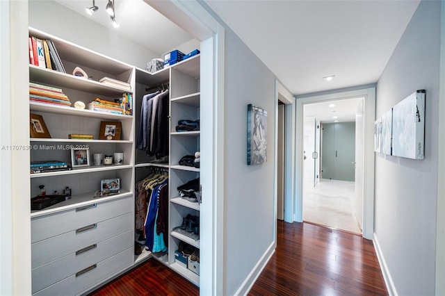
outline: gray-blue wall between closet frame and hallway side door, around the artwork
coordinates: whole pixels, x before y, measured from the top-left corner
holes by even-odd
[[[226,295],[274,242],[275,76],[229,29],[225,39]],[[267,162],[247,165],[247,106],[268,112]]]

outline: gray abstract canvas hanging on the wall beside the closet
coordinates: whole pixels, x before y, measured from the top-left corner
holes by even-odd
[[[267,111],[248,104],[248,165],[267,161]]]

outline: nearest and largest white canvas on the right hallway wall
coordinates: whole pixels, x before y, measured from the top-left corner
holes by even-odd
[[[425,139],[425,90],[417,90],[393,107],[392,154],[423,159]]]

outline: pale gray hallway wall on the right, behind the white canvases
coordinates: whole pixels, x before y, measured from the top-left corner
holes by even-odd
[[[426,90],[425,159],[375,154],[375,236],[398,295],[435,294],[440,5],[419,4],[377,85],[376,117]]]

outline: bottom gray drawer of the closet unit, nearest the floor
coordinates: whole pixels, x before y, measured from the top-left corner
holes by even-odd
[[[124,252],[115,254],[104,261],[91,265],[90,267],[80,270],[58,283],[48,288],[38,291],[33,295],[38,296],[60,296],[60,295],[79,295],[93,286],[102,283],[108,278],[115,276],[119,272],[130,268],[133,264],[133,248],[126,249]]]

